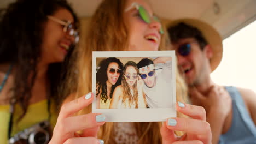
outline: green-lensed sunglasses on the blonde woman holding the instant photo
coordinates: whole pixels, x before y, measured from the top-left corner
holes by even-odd
[[[138,12],[139,12],[139,17],[141,17],[141,19],[142,19],[144,22],[146,22],[146,23],[151,23],[151,22],[152,22],[152,21],[151,21],[151,18],[152,18],[152,17],[153,17],[153,19],[154,19],[155,21],[160,22],[160,20],[158,19],[158,17],[156,17],[156,16],[152,16],[152,17],[151,17],[151,16],[149,15],[148,11],[147,11],[144,7],[142,7],[142,5],[139,5],[139,4],[136,3],[136,2],[132,3],[132,5],[131,5],[129,8],[125,9],[125,12],[131,10],[133,7],[135,7],[135,8],[138,10]],[[161,26],[161,28],[160,28],[159,33],[160,33],[160,34],[164,34],[164,30],[162,29],[162,26]]]

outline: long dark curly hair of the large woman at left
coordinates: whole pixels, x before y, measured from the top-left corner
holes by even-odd
[[[20,119],[27,112],[31,89],[38,72],[36,67],[41,58],[44,23],[48,21],[48,15],[53,15],[60,8],[69,10],[78,27],[78,18],[66,0],[18,0],[9,4],[7,9],[1,10],[0,64],[9,63],[15,67],[14,87],[10,89],[14,93],[9,101],[21,105],[24,113]],[[64,63],[49,65],[48,96],[51,96],[55,103],[58,103],[59,99],[56,89],[65,76],[65,63],[74,47],[73,45]]]

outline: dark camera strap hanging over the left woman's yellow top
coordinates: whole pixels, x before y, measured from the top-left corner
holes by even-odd
[[[13,116],[14,116],[14,105],[15,103],[11,103],[10,105],[10,121],[9,121],[9,128],[8,128],[8,139],[11,138],[11,130],[13,129]],[[51,112],[50,112],[50,107],[51,107],[51,101],[50,99],[47,100],[47,109],[48,109],[48,121],[50,122],[51,118]]]

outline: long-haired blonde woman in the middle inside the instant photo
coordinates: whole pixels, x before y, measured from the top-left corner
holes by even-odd
[[[114,90],[110,109],[146,108],[143,85],[136,63],[127,62],[124,66],[121,85]]]

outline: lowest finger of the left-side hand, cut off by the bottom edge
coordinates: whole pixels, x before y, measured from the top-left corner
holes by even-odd
[[[95,137],[74,137],[66,140],[63,144],[77,144],[77,143],[92,143],[92,144],[103,144],[102,140],[98,140]]]

